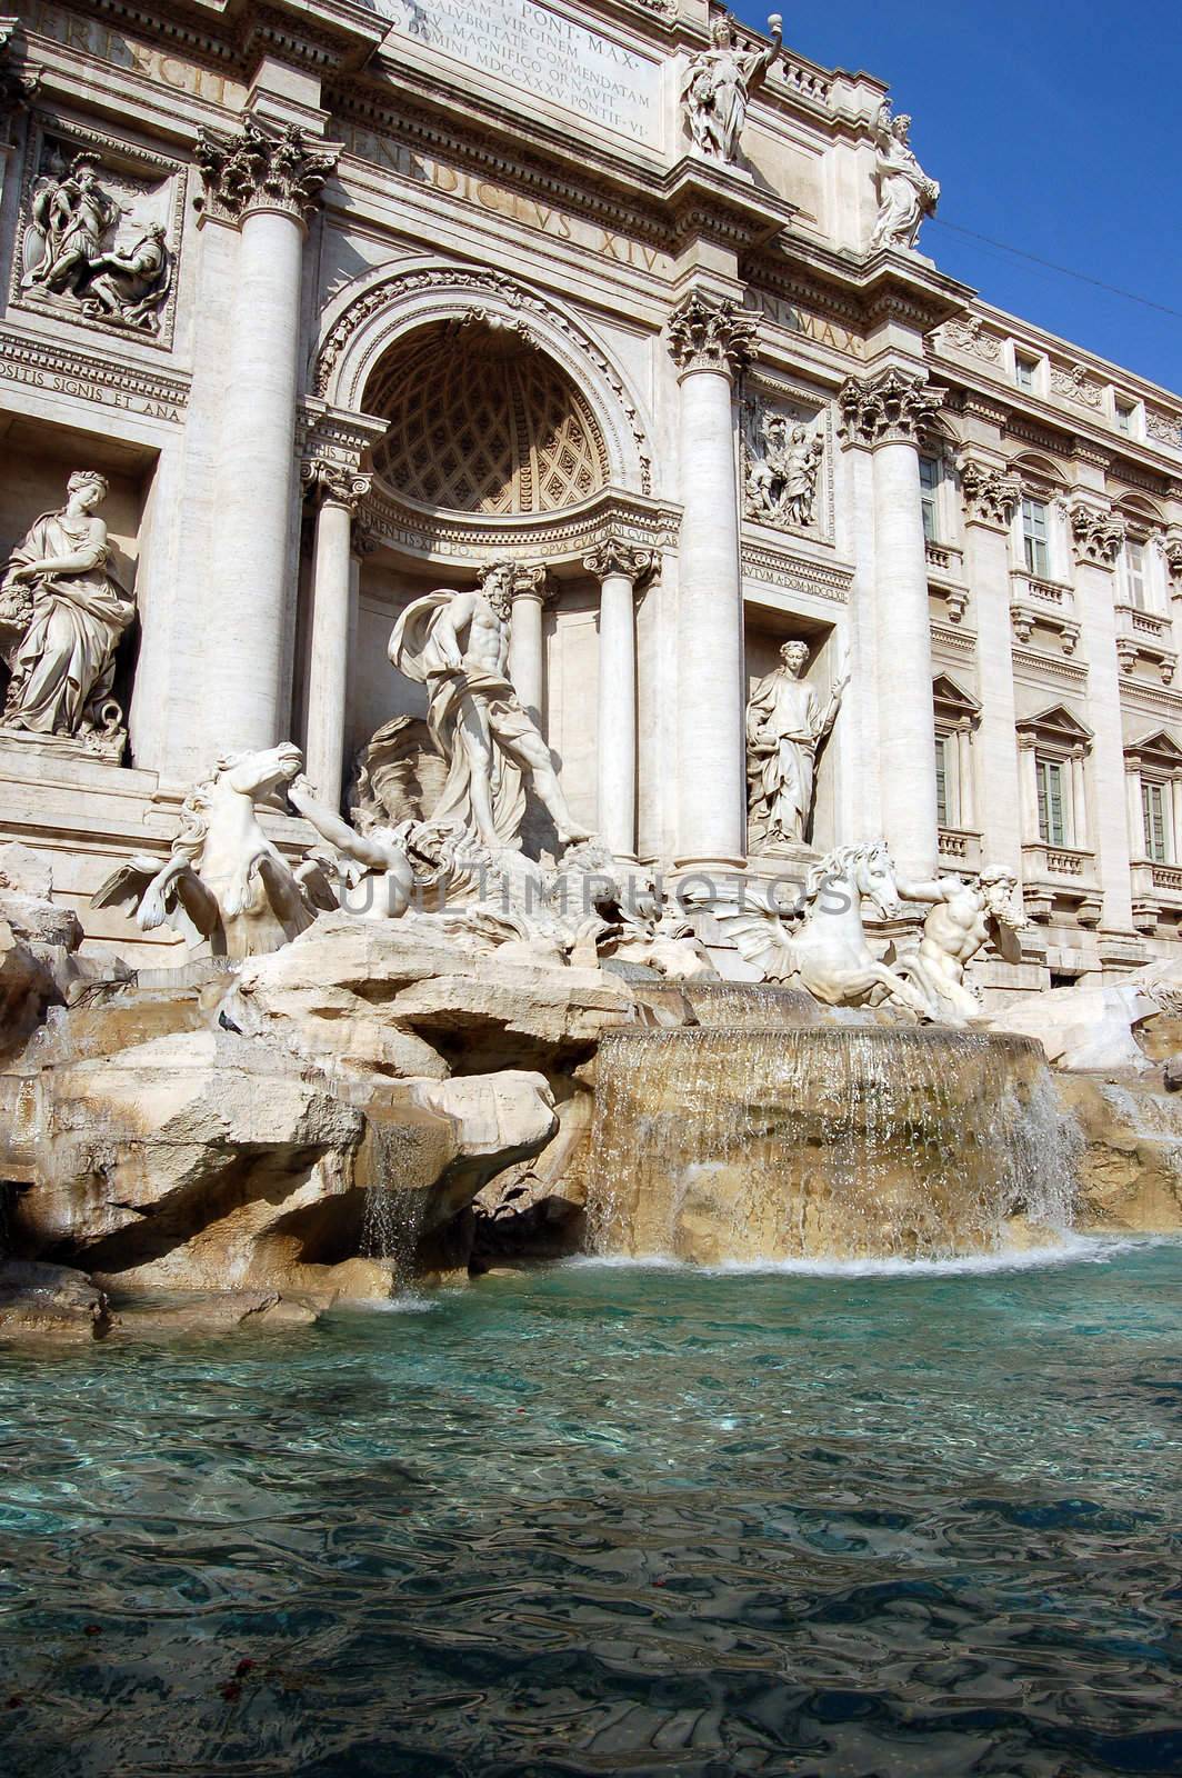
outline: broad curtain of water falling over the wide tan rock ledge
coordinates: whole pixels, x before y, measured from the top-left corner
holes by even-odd
[[[1050,1239],[1072,1195],[1074,1125],[1027,1038],[729,1022],[599,1049],[601,1253],[937,1259],[1015,1220]]]

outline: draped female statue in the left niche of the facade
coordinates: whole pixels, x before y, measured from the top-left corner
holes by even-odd
[[[11,729],[114,736],[123,720],[110,690],[135,601],[107,573],[107,526],[96,512],[105,498],[105,477],[71,475],[66,505],[34,521],[0,580],[0,626],[18,633],[7,654]]]

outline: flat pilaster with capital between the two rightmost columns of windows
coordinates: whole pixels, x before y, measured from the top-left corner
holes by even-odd
[[[1097,852],[1104,889],[1104,930],[1129,933],[1132,932],[1132,841],[1125,820],[1125,743],[1113,605],[1113,573],[1120,560],[1125,528],[1107,501],[1091,493],[1070,507],[1066,519],[1075,553],[1075,603],[1082,653],[1088,661],[1088,715],[1095,729],[1088,845]]]

